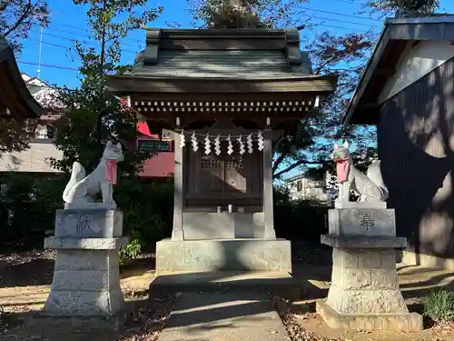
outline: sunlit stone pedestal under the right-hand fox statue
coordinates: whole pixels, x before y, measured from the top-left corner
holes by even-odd
[[[409,313],[400,293],[395,248],[407,245],[396,237],[394,210],[348,208],[329,213],[332,246],[331,287],[317,311],[333,328],[363,330],[422,329],[422,316]]]

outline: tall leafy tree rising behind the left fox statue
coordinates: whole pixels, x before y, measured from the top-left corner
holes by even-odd
[[[84,47],[81,42],[75,43],[76,55],[81,60],[81,85],[59,91],[57,100],[67,113],[57,125],[55,145],[63,152],[63,158],[51,159],[51,165],[68,173],[77,160],[88,173],[99,162],[103,143],[112,138],[127,149],[125,160],[119,165],[120,175],[135,178],[150,153],[136,150],[136,117],[124,101],[108,91],[106,77],[128,68],[118,65],[120,39],[154,20],[162,8],[144,9],[146,0],[74,0],[74,4],[88,6],[88,24],[99,45]]]

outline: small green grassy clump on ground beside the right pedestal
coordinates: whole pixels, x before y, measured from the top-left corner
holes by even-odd
[[[432,291],[422,299],[424,316],[436,323],[454,321],[454,292],[446,289]]]

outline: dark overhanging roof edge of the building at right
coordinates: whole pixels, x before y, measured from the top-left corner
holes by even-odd
[[[454,15],[391,18],[385,21],[379,41],[370,56],[360,83],[351,97],[342,121],[348,124],[376,124],[378,97],[410,41],[454,41]]]

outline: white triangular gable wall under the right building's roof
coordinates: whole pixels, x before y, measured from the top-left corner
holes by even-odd
[[[396,65],[396,73],[388,79],[379,95],[379,104],[398,94],[407,86],[428,75],[454,56],[454,45],[449,42],[409,42]]]

